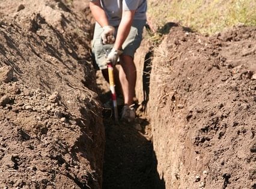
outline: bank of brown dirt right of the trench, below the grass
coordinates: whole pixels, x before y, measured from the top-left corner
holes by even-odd
[[[256,188],[256,28],[174,26],[154,48],[150,115],[166,188]]]

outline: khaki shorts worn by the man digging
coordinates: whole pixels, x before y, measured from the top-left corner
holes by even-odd
[[[134,58],[134,54],[138,47],[141,44],[142,40],[142,32],[145,26],[146,20],[133,20],[132,28],[130,29],[129,35],[127,36],[126,40],[123,43],[122,55],[129,55]],[[117,31],[117,27],[115,27]],[[100,68],[100,70],[106,69],[106,50],[112,48],[112,44],[105,44],[101,43],[100,35],[102,34],[103,29],[96,22],[95,29],[94,29],[94,36],[93,36],[93,55],[96,61],[96,64]]]

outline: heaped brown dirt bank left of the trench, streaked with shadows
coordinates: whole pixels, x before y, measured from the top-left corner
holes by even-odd
[[[89,21],[62,1],[2,1],[0,14],[0,188],[100,188]]]

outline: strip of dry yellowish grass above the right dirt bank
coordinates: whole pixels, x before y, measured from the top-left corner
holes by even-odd
[[[155,28],[167,22],[207,34],[221,32],[234,25],[256,26],[256,1],[248,0],[166,0],[148,2],[148,18]]]

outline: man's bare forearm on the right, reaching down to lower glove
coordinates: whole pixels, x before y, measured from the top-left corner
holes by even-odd
[[[118,26],[117,37],[115,39],[114,49],[121,49],[132,26],[133,17],[136,10],[123,11],[120,25]]]

